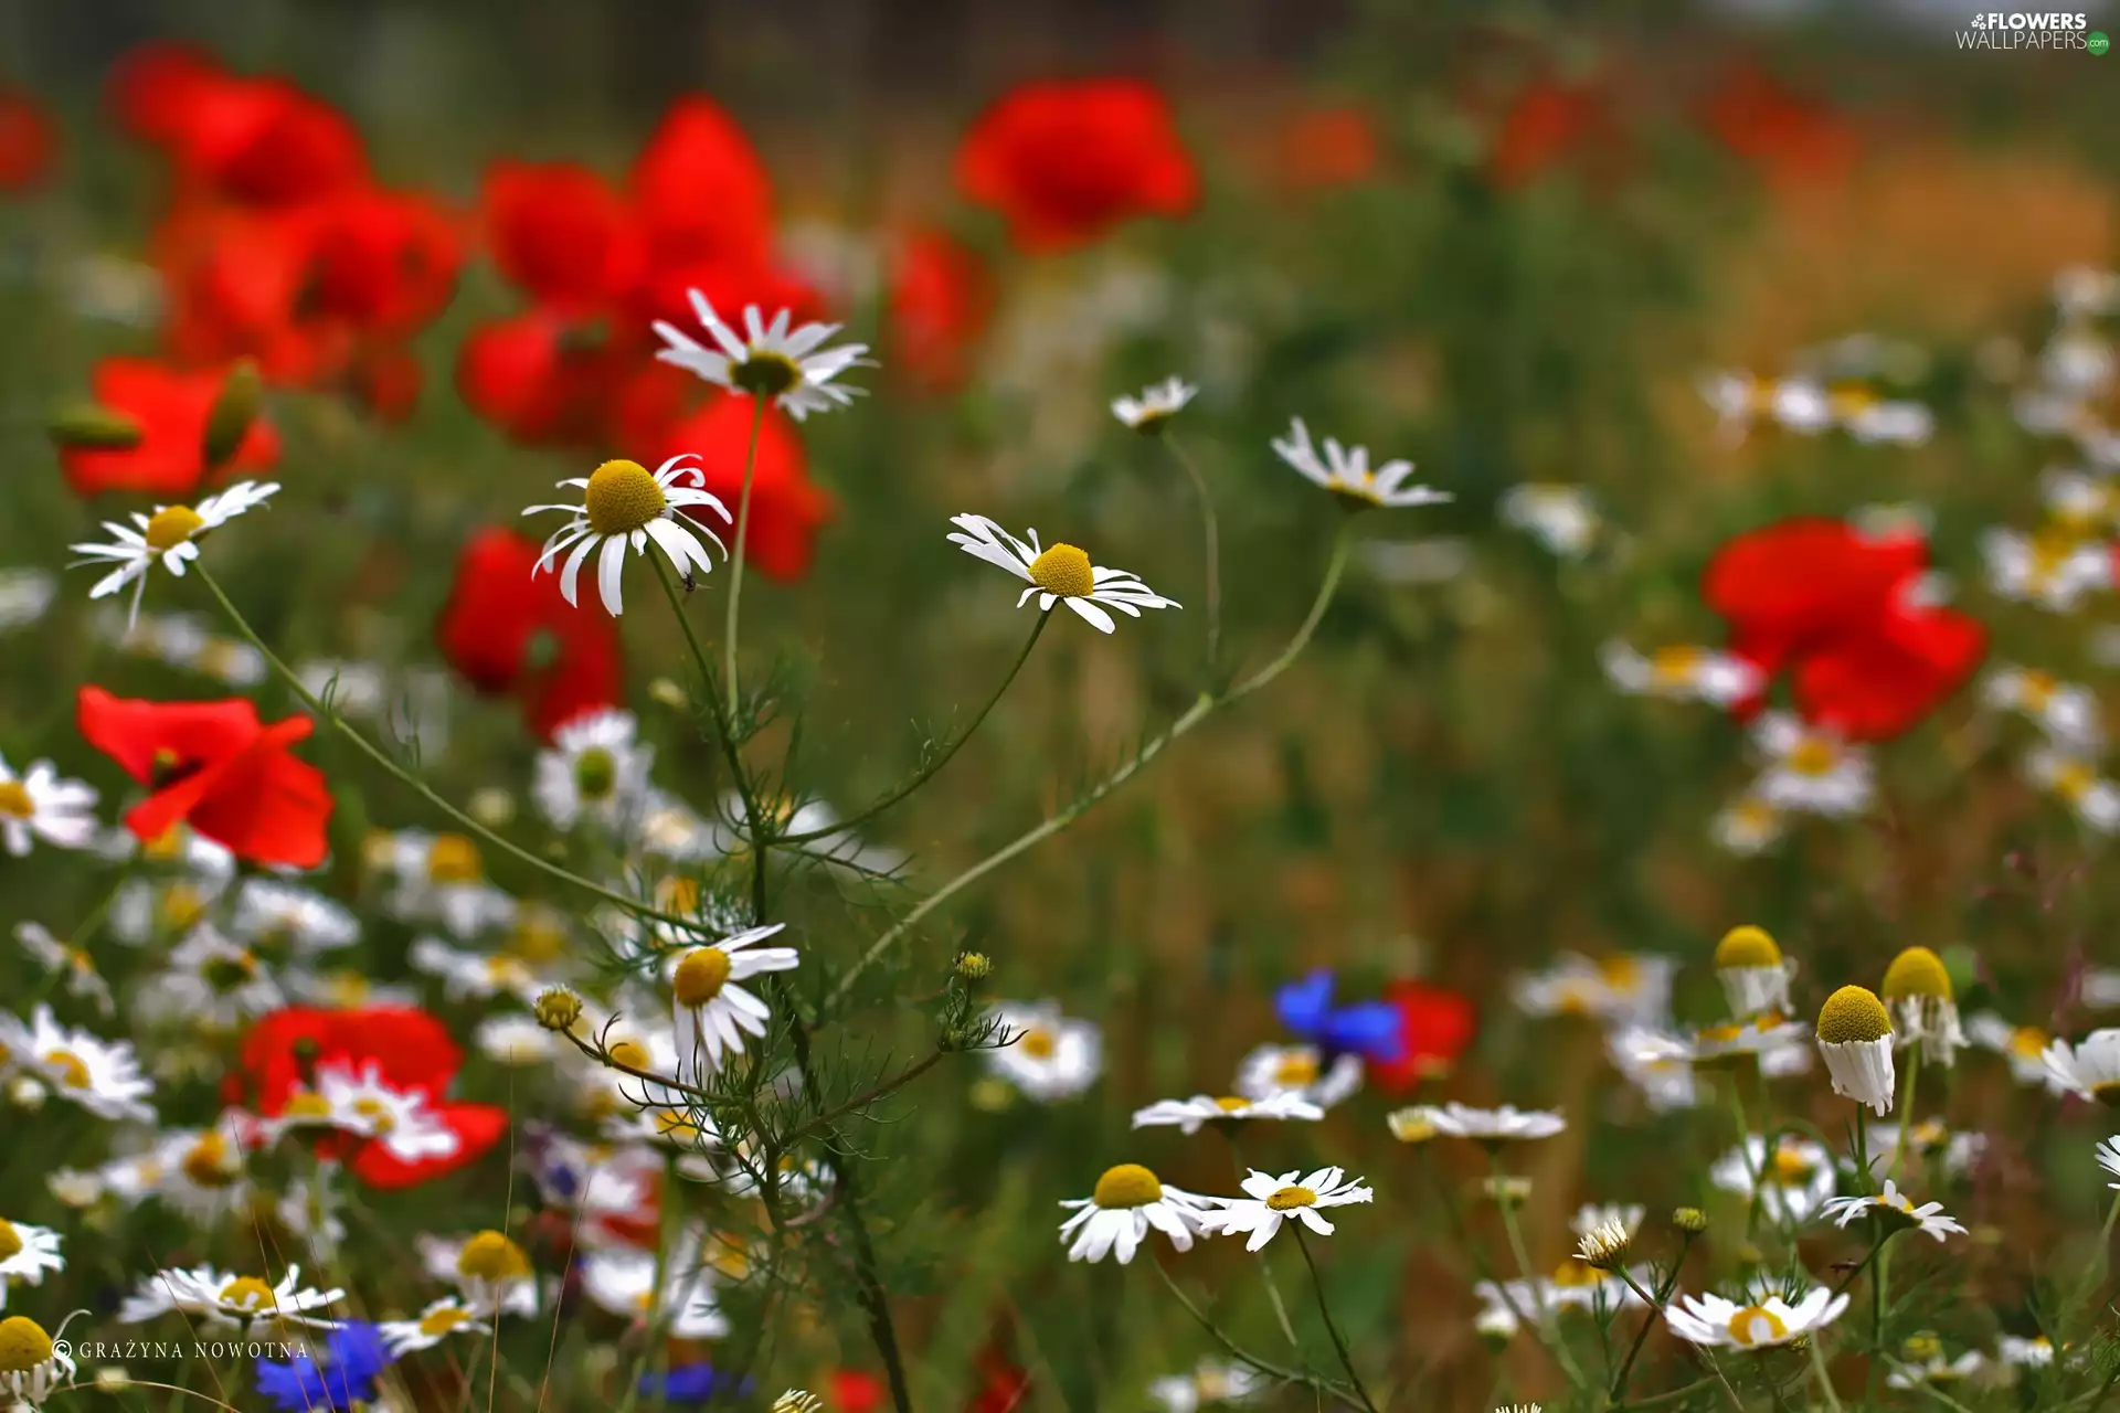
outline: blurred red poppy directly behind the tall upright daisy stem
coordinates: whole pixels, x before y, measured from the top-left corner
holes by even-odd
[[[674,424],[661,441],[657,462],[693,453],[706,481],[700,489],[719,496],[738,517],[744,491],[744,455],[750,447],[750,398],[717,394],[697,413]],[[808,472],[801,434],[780,411],[767,411],[759,426],[759,455],[750,475],[750,530],[744,536],[744,559],[767,578],[795,580],[810,572],[816,532],[835,515],[831,491]],[[702,521],[731,549],[736,527],[719,517]]]

